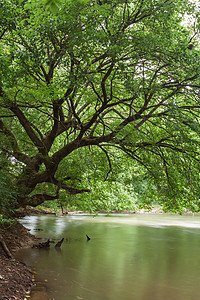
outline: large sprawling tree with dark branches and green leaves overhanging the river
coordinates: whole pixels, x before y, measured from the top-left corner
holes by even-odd
[[[15,168],[17,205],[56,199],[60,189],[89,192],[70,162],[91,147],[110,169],[110,149],[122,150],[158,193],[198,204],[195,7],[189,0],[58,5],[52,13],[42,1],[0,2],[0,149]],[[44,183],[56,189],[36,192]]]

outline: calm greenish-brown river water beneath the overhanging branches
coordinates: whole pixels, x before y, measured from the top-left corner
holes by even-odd
[[[31,216],[21,223],[45,239],[65,238],[61,251],[52,244],[17,253],[50,299],[200,299],[199,216]]]

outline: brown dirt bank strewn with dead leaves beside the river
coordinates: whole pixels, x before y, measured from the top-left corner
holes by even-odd
[[[12,256],[17,249],[30,247],[37,240],[20,223],[1,226],[0,235]],[[0,300],[24,300],[34,285],[34,275],[23,263],[9,258],[3,248],[0,243]]]

